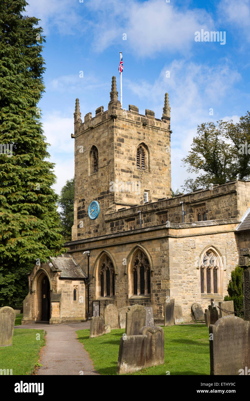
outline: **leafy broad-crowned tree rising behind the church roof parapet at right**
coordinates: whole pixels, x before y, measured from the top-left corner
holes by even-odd
[[[197,178],[187,178],[183,190],[209,188],[230,180],[250,177],[250,112],[231,121],[203,123],[197,127],[191,151],[182,159],[187,171]]]

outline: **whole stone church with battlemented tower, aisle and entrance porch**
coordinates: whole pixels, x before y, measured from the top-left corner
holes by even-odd
[[[193,302],[204,309],[223,300],[242,248],[250,248],[250,181],[172,198],[168,94],[161,119],[122,109],[115,77],[108,110],[82,121],[76,99],[74,127],[72,241],[28,275],[22,324],[78,322],[96,308],[103,316],[110,303],[152,306],[161,324],[172,298],[190,321]]]

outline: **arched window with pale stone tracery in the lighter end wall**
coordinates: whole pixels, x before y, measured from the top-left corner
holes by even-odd
[[[223,296],[223,262],[215,250],[209,249],[201,257],[201,294]]]

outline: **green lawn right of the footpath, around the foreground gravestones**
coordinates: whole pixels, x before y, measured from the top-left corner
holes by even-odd
[[[163,327],[165,364],[142,369],[133,375],[209,375],[209,332],[202,324]],[[78,330],[77,337],[89,352],[101,375],[116,375],[119,344],[125,329],[111,330],[101,337],[89,338],[89,330]]]

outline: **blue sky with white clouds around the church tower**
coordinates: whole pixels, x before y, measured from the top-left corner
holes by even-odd
[[[106,110],[115,75],[120,99],[120,51],[123,108],[133,104],[161,118],[169,93],[172,189],[181,189],[189,176],[181,159],[197,124],[236,122],[250,109],[250,0],[80,1],[28,0],[25,13],[41,19],[46,35],[46,92],[39,107],[56,163],[56,192],[74,175],[75,98],[82,119],[101,105]],[[202,29],[226,32],[225,45],[195,42]]]

